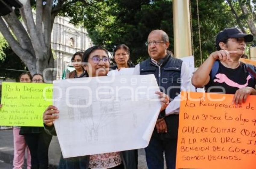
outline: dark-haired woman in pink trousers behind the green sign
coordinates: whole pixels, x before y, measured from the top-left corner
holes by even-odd
[[[32,77],[29,72],[21,73],[19,76],[19,82],[30,83]],[[14,140],[14,158],[13,158],[13,169],[22,169],[24,163],[25,150],[27,149],[27,169],[31,167],[31,156],[29,148],[25,142],[24,136],[20,135],[20,127],[13,127],[13,140]]]

